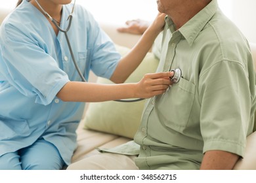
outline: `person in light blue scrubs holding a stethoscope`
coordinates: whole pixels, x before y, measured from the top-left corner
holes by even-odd
[[[173,73],[148,74],[134,84],[81,82],[63,33],[40,6],[66,29],[71,0],[24,0],[0,29],[0,169],[61,169],[76,148],[75,129],[84,103],[148,98],[171,84]],[[75,5],[68,31],[74,57],[89,71],[121,83],[137,68],[163,28],[164,14],[125,58],[83,7]],[[70,101],[69,103],[67,101]]]

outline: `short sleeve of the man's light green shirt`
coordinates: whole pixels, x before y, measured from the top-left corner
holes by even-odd
[[[244,155],[251,111],[245,65],[219,61],[200,76],[203,152],[223,150]]]

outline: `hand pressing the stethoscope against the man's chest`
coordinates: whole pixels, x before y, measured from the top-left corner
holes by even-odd
[[[146,99],[166,92],[169,86],[173,84],[170,80],[173,75],[173,71],[144,75],[142,80],[136,84],[135,98]]]

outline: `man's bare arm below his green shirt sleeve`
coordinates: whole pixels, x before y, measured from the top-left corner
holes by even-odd
[[[200,170],[231,170],[239,156],[221,150],[205,152]]]

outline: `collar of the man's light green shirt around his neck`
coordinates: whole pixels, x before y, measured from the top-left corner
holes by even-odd
[[[203,8],[198,14],[196,14],[192,19],[190,19],[186,24],[184,24],[179,31],[184,39],[191,46],[196,40],[196,37],[200,34],[203,27],[211,20],[213,15],[217,12],[219,6],[217,0],[211,1],[205,8]],[[168,16],[165,17],[165,22],[169,27],[171,33],[175,31],[175,24]]]

